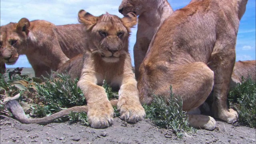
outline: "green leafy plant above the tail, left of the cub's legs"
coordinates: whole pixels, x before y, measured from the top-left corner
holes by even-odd
[[[43,84],[36,85],[38,96],[46,107],[46,112],[40,114],[52,114],[73,106],[86,105],[82,90],[77,86],[78,79],[72,80],[63,74],[57,76],[57,79],[44,78]],[[36,111],[36,114],[39,113]]]

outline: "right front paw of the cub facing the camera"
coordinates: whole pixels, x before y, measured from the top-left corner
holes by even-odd
[[[120,118],[127,122],[136,123],[138,121],[144,120],[146,117],[146,112],[141,105],[129,106],[122,105],[120,108]]]

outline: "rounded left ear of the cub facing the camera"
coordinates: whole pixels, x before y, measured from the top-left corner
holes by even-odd
[[[86,29],[89,30],[96,24],[97,17],[93,16],[89,12],[86,12],[85,10],[80,10],[78,12],[78,21],[83,23],[86,26]]]

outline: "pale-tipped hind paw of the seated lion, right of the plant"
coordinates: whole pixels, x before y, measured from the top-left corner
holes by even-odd
[[[216,121],[211,116],[189,114],[189,126],[194,128],[201,128],[206,130],[214,130],[216,128]]]

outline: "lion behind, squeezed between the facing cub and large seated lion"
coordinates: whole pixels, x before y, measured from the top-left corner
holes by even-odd
[[[122,0],[119,12],[124,15],[134,12],[138,16],[138,30],[133,49],[135,77],[138,79],[140,64],[154,34],[173,10],[167,0]]]

